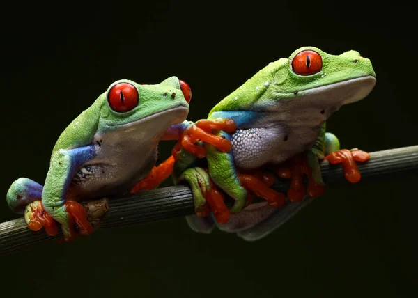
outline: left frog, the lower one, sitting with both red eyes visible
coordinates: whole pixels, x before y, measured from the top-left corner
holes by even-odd
[[[28,178],[13,182],[7,193],[10,209],[24,213],[32,230],[45,227],[56,235],[58,221],[65,240],[77,235],[75,224],[88,235],[93,228],[77,202],[125,194],[155,170],[157,144],[178,139],[191,96],[177,77],[160,84],[114,82],[59,136],[43,187]],[[173,161],[167,161],[157,168],[169,169]],[[171,173],[163,172],[158,181]],[[155,180],[148,187],[155,187]]]

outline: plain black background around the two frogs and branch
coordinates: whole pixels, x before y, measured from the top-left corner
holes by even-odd
[[[270,61],[304,45],[330,54],[355,49],[376,70],[369,97],[328,122],[344,148],[418,144],[417,28],[412,7],[401,1],[86,2],[2,8],[5,195],[21,176],[44,182],[59,134],[116,79],[156,84],[177,75],[192,87],[189,119],[197,120]],[[411,297],[417,182],[404,175],[330,185],[253,243],[218,230],[194,233],[183,218],[48,242],[0,257],[0,295]],[[0,221],[16,217],[4,199]]]

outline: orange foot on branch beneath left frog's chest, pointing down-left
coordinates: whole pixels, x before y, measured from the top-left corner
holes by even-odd
[[[154,166],[146,178],[139,181],[137,185],[131,189],[131,194],[137,193],[138,191],[144,189],[155,189],[155,187],[157,187],[162,181],[169,178],[169,176],[173,173],[174,162],[174,157],[171,155],[158,166]]]

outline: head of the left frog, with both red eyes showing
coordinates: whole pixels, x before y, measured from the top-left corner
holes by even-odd
[[[101,104],[99,126],[102,130],[111,130],[142,125],[159,132],[185,120],[191,97],[189,86],[177,77],[154,85],[137,84],[128,79],[115,81],[98,100]]]

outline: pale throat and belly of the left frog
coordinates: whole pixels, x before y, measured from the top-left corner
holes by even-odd
[[[173,109],[155,120],[96,133],[91,145],[95,157],[75,173],[67,196],[81,200],[130,191],[157,162],[157,144],[167,127],[180,123],[185,116],[187,110]]]

